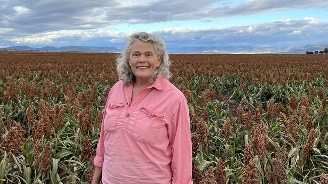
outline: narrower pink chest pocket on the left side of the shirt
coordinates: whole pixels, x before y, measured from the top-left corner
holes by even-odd
[[[124,109],[123,103],[109,102],[106,108],[106,117],[104,119],[104,130],[106,132],[115,132],[117,130],[117,125],[119,117]]]

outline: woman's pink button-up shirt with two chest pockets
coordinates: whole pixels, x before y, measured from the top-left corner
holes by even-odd
[[[181,91],[162,76],[131,104],[133,85],[108,93],[94,165],[102,182],[192,184],[190,119]]]

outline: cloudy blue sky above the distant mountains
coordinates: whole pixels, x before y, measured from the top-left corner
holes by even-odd
[[[0,48],[124,47],[129,34],[168,47],[328,43],[328,1],[0,0]]]

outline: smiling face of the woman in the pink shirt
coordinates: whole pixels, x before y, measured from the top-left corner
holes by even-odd
[[[149,81],[161,59],[150,42],[136,40],[131,46],[129,64],[137,81]]]

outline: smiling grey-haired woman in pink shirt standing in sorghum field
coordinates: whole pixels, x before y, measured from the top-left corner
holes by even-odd
[[[102,118],[92,183],[190,184],[187,101],[168,81],[171,61],[159,37],[129,37]]]

